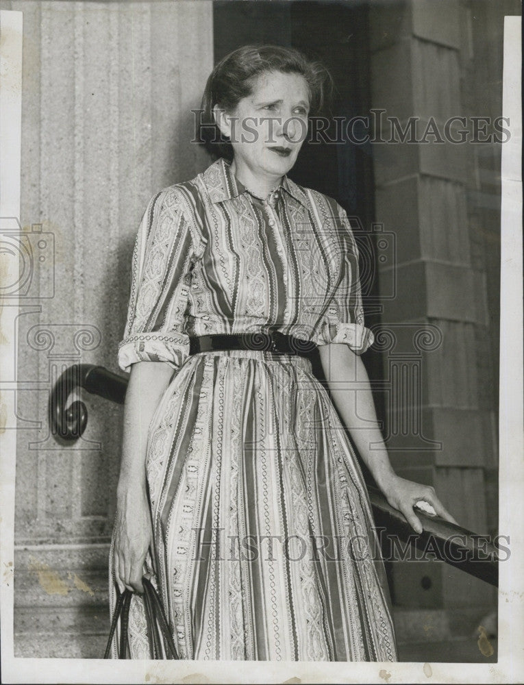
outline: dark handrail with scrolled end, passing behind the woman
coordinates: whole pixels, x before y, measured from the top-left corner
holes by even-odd
[[[92,395],[123,404],[127,384],[126,377],[112,373],[103,366],[70,366],[60,375],[49,397],[49,423],[53,436],[72,442],[84,434],[88,421],[85,403],[76,400],[67,406],[75,390],[83,388]],[[370,485],[368,490],[377,531],[386,533],[385,539],[380,535],[383,544],[396,537],[418,550],[422,555],[416,557],[419,560],[444,561],[490,585],[498,586],[497,547],[483,536],[421,510],[417,511],[417,515],[422,521],[423,532],[417,534],[403,514],[388,504],[380,490]],[[482,542],[482,553],[479,542]]]

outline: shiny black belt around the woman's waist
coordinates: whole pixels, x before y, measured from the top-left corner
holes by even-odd
[[[189,353],[212,352],[224,349],[254,349],[262,352],[292,354],[307,357],[314,349],[312,340],[302,340],[274,331],[196,336],[189,338]]]

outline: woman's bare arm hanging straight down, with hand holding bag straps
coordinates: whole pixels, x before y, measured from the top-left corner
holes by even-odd
[[[118,588],[142,593],[142,566],[151,543],[145,457],[147,432],[173,376],[165,362],[136,362],[131,367],[124,404],[120,477],[116,489],[114,575]]]

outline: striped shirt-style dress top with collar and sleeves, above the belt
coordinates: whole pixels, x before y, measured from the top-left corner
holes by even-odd
[[[220,159],[149,201],[118,364],[177,368],[189,336],[269,328],[365,351],[373,334],[364,325],[358,250],[333,199],[288,177],[258,199]]]

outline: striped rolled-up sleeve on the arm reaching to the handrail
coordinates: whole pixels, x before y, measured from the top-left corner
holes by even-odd
[[[343,247],[340,279],[327,306],[316,343],[345,343],[355,353],[362,354],[373,345],[375,338],[364,325],[358,247],[347,214],[340,206],[336,224]]]

